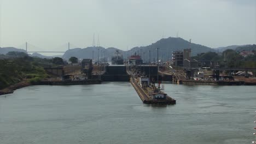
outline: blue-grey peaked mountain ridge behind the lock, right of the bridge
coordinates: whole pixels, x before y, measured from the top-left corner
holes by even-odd
[[[168,57],[171,58],[172,51],[181,51],[183,49],[189,49],[191,48],[191,55],[194,56],[197,53],[201,52],[209,52],[209,51],[214,51],[214,49],[211,49],[210,47],[199,45],[199,44],[194,44],[191,43],[189,44],[189,41],[184,40],[182,38],[166,38],[166,39],[161,39],[159,41],[156,41],[156,43],[148,46],[142,46],[142,47],[133,47],[129,51],[123,51],[116,49],[114,47],[109,47],[105,49],[105,57],[108,59],[111,59],[112,56],[115,55],[115,51],[118,50],[126,59],[127,57],[131,56],[132,53],[137,53],[140,55],[142,51],[142,59],[143,56],[145,55],[145,61],[149,61],[149,50],[152,52],[151,53],[151,59],[153,61],[153,53],[155,53],[155,61],[156,61],[156,47],[159,48],[159,59],[164,59],[164,61],[167,61]],[[84,49],[76,48],[76,49],[71,49],[65,52],[62,58],[68,59],[72,56],[77,57],[79,59],[82,58],[92,58],[92,51],[94,51],[94,59],[97,61],[97,55],[99,51],[99,57],[101,57],[101,51],[104,50],[104,47],[87,47]],[[144,52],[144,55],[143,55]],[[169,52],[169,53],[168,53]]]

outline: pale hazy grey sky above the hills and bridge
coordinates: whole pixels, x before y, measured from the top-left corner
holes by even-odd
[[[0,46],[100,45],[126,50],[162,37],[209,47],[256,43],[255,0],[0,0]],[[28,47],[30,49],[30,47]],[[31,48],[35,50],[33,47]]]

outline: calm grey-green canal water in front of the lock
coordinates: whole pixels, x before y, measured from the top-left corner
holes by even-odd
[[[30,86],[0,96],[0,143],[251,143],[255,86],[165,83],[176,105],[142,104],[129,82]]]

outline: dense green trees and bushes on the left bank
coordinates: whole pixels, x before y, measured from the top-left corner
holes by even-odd
[[[24,52],[9,52],[9,56],[13,57],[0,59],[0,89],[21,81],[33,84],[48,77],[43,67],[52,65],[51,59],[29,57]]]

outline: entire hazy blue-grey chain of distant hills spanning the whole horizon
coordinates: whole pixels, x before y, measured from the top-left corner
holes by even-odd
[[[250,45],[231,45],[231,46],[226,46],[226,47],[218,47],[216,49],[212,49],[211,47],[203,46],[200,44],[194,44],[194,43],[189,43],[189,41],[184,40],[182,38],[165,38],[165,39],[160,39],[156,41],[155,43],[148,45],[148,46],[141,46],[141,47],[133,47],[131,50],[128,51],[123,51],[119,50],[115,47],[108,47],[105,49],[104,47],[98,46],[98,47],[86,47],[84,49],[82,48],[75,48],[75,49],[70,49],[67,50],[63,56],[43,56],[40,53],[33,53],[30,56],[33,57],[41,57],[41,58],[52,58],[52,57],[62,57],[63,59],[68,60],[70,57],[77,57],[79,59],[83,58],[92,58],[94,57],[94,61],[97,61],[98,55],[99,59],[101,57],[106,57],[106,60],[110,61],[112,56],[115,56],[115,52],[118,50],[121,55],[123,55],[124,59],[127,57],[131,56],[134,53],[137,53],[137,55],[141,55],[142,59],[146,62],[149,61],[149,50],[151,51],[151,61],[156,61],[156,47],[159,48],[159,59],[162,61],[167,61],[168,58],[171,59],[172,57],[172,52],[173,51],[182,51],[183,49],[189,49],[191,48],[191,56],[195,56],[197,53],[203,53],[203,52],[223,52],[226,49],[243,49],[242,47],[247,46],[246,49],[251,49],[248,48]],[[26,52],[25,50],[22,49],[16,49],[14,47],[4,47],[0,48],[0,54],[6,54],[9,51],[20,51],[20,52]],[[104,52],[103,52],[104,51]],[[92,54],[94,55],[92,56]],[[104,54],[103,54],[104,53]],[[154,53],[154,54],[153,54]]]

